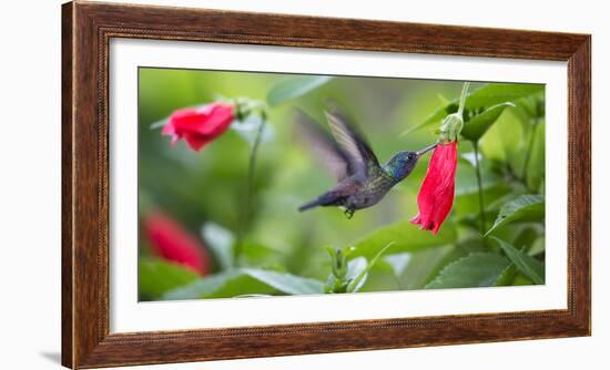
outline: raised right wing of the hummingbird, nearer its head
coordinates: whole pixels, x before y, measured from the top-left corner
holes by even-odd
[[[366,178],[369,167],[379,166],[379,161],[364,135],[355,125],[349,123],[346,115],[337,107],[326,111],[326,120],[331,126],[333,137],[335,137],[342,152],[347,155],[348,174]]]

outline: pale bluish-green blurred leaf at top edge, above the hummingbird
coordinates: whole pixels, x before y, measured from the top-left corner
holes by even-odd
[[[329,75],[294,75],[277,81],[267,93],[267,103],[277,106],[284,102],[303,96],[328,81]]]

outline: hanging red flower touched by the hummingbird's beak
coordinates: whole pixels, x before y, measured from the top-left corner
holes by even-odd
[[[417,195],[419,213],[411,218],[413,224],[433,234],[438,233],[454,205],[456,165],[457,142],[438,144]]]

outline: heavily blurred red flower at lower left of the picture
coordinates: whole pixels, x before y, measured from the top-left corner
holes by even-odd
[[[144,219],[153,251],[165,260],[183,265],[200,275],[210,271],[210,257],[203,245],[180,224],[163,214]]]

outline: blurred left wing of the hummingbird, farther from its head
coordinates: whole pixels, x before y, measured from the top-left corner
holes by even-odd
[[[319,164],[325,166],[337,181],[347,177],[349,175],[348,156],[331,135],[314,119],[301,110],[296,110],[295,120],[298,123],[296,129],[299,136],[309,144]]]

